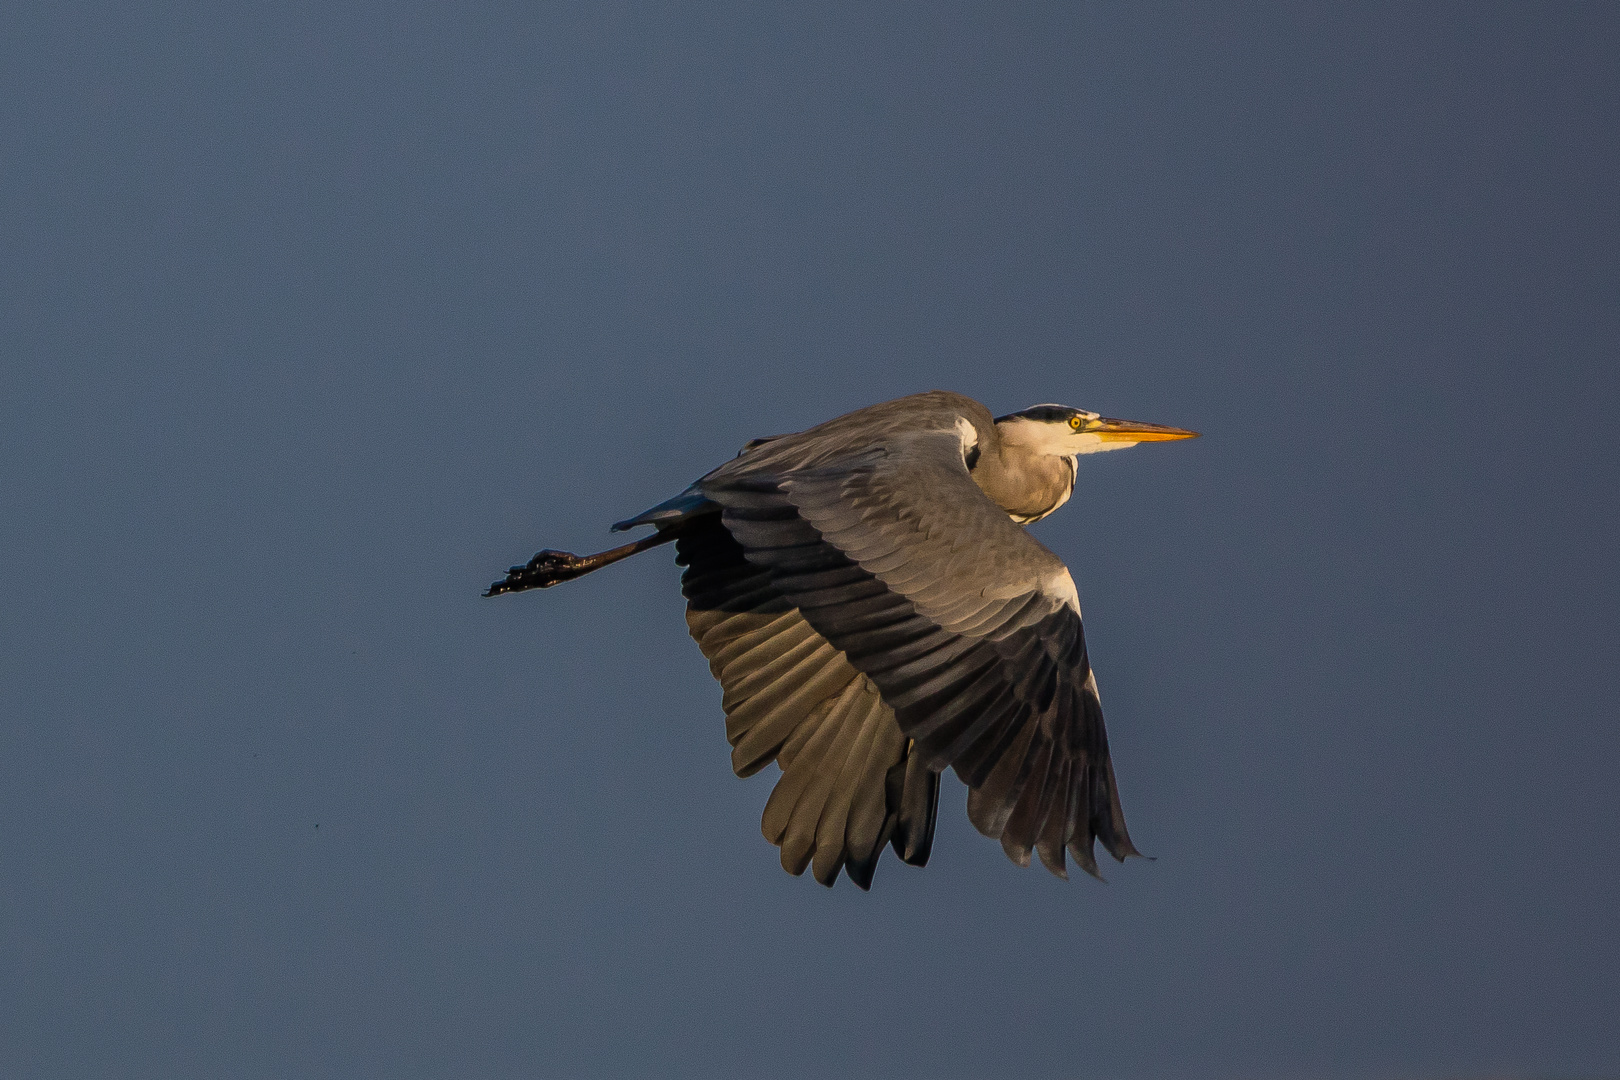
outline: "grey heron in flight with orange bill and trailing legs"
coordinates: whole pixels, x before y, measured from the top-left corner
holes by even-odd
[[[737,776],[773,761],[765,837],[782,868],[862,889],[885,847],[928,861],[940,772],[1027,866],[1097,876],[1124,826],[1069,570],[1024,526],[1074,492],[1076,458],[1197,432],[1064,405],[991,418],[935,390],[755,439],[614,525],[595,555],[543,551],[484,596],[549,588],[659,544],[719,680]]]

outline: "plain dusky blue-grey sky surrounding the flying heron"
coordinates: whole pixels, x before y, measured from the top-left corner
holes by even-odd
[[[1620,6],[460,8],[0,16],[0,1072],[1620,1077]],[[480,597],[935,387],[1205,432],[1037,528],[1108,886]]]

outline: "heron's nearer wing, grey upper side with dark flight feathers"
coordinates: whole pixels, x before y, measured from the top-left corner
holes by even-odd
[[[870,680],[912,755],[956,769],[980,832],[1021,865],[1038,852],[1066,876],[1068,850],[1095,874],[1094,839],[1137,852],[1074,583],[974,483],[962,410],[928,405],[881,437],[831,432],[833,450],[816,429],[784,439],[697,487],[778,602]]]

